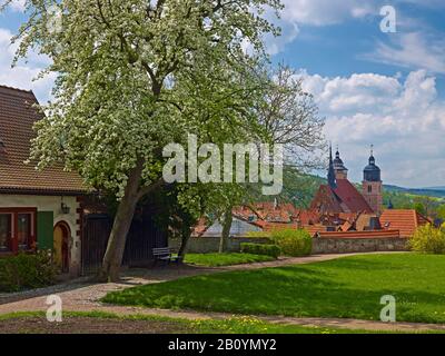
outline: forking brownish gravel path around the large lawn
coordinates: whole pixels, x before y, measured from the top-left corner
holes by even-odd
[[[109,284],[90,284],[86,278],[78,280],[52,286],[49,288],[42,288],[39,290],[27,291],[14,295],[0,295],[0,314],[9,314],[16,312],[37,312],[47,310],[47,296],[57,294],[62,298],[63,310],[66,312],[108,312],[119,315],[131,315],[131,314],[145,314],[145,315],[159,315],[168,317],[180,317],[188,319],[196,318],[227,318],[233,315],[222,313],[199,313],[199,312],[174,312],[166,309],[155,308],[138,308],[138,307],[123,307],[123,306],[111,306],[103,305],[98,300],[103,297],[107,293],[113,290],[121,290],[125,288],[172,280],[187,276],[221,273],[228,270],[248,270],[258,269],[266,267],[280,267],[290,266],[298,264],[309,264],[316,261],[324,261],[336,259],[345,256],[352,256],[357,254],[348,255],[315,255],[310,257],[293,257],[283,258],[276,261],[256,263],[250,265],[237,265],[227,267],[215,267],[215,268],[201,268],[192,266],[175,267],[170,266],[167,268],[157,269],[137,269],[128,270],[123,275],[125,277],[120,283]],[[7,299],[9,298],[9,299]],[[11,299],[21,299],[10,301]],[[368,329],[368,330],[405,330],[405,332],[421,332],[421,330],[445,330],[445,325],[438,324],[419,324],[419,323],[380,323],[369,320],[357,320],[357,319],[339,319],[339,318],[296,318],[296,317],[281,317],[281,316],[259,316],[259,318],[270,323],[284,323],[295,324],[301,326],[318,326],[318,327],[343,327],[349,329]]]

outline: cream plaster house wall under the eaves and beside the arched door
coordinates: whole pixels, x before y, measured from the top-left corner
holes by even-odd
[[[80,236],[77,236],[77,230],[80,229],[77,220],[79,214],[77,209],[79,204],[76,197],[63,197],[63,202],[70,208],[67,215],[61,214],[60,205],[62,197],[51,196],[31,196],[31,195],[0,195],[0,208],[37,208],[38,211],[53,211],[56,226],[59,221],[68,224],[71,233],[71,256],[70,256],[70,273],[77,274],[80,269],[81,246]]]

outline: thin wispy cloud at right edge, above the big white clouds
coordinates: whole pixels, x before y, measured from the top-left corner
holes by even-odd
[[[443,36],[431,38],[421,32],[395,33],[390,44],[379,41],[373,53],[364,55],[362,58],[445,73],[445,40]]]

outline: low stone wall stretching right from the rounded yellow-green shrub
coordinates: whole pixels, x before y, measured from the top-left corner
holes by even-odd
[[[313,254],[348,254],[406,250],[405,238],[314,238]]]

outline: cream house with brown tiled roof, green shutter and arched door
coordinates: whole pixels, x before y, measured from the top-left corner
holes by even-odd
[[[0,257],[53,249],[63,273],[80,263],[79,197],[87,192],[75,172],[26,165],[33,123],[42,118],[31,91],[0,86]]]

